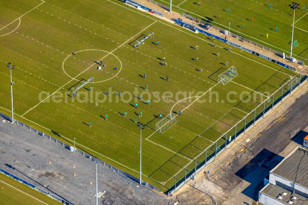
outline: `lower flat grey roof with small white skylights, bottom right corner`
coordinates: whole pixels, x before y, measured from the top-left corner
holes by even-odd
[[[282,193],[285,192],[286,195],[282,195]],[[294,202],[292,203],[292,205],[308,205],[308,200],[305,197],[302,197],[300,195],[297,194],[292,194],[290,191],[287,191],[285,189],[283,189],[282,187],[278,187],[277,185],[273,185],[268,183],[261,191],[260,193],[263,193],[265,195],[268,195],[278,201],[281,201],[283,203],[286,204],[290,204],[288,203],[290,201],[291,197],[296,197],[296,199],[292,199],[294,200]],[[292,194],[292,195],[291,195]],[[278,196],[282,196],[282,199],[278,199]]]

